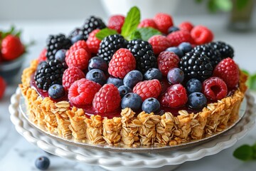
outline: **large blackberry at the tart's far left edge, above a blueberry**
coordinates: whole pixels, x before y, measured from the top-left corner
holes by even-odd
[[[62,85],[63,72],[68,68],[66,63],[56,59],[43,61],[38,65],[34,79],[36,86],[43,90],[48,90],[53,84]]]

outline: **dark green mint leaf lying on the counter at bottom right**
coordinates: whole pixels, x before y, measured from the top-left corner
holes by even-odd
[[[253,157],[253,148],[250,145],[242,145],[233,152],[233,156],[243,161],[250,160]]]

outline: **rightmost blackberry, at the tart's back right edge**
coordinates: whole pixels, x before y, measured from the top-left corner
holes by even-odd
[[[210,42],[209,45],[220,52],[222,59],[234,57],[234,49],[228,43],[223,41],[216,41]]]

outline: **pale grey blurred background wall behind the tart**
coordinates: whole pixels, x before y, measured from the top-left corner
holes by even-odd
[[[132,1],[132,0],[130,0]],[[133,0],[146,1],[147,0]],[[156,3],[158,0],[155,0]],[[174,1],[174,0],[166,0]],[[207,14],[206,3],[179,0],[174,15]],[[0,20],[85,19],[91,14],[104,16],[100,0],[0,0]]]

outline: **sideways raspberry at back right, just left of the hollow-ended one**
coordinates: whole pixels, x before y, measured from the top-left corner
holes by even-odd
[[[169,38],[171,46],[178,46],[183,42],[193,43],[193,38],[188,31],[174,31],[169,33],[167,38]]]

